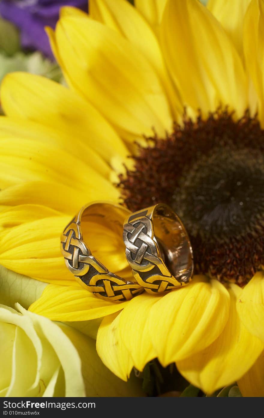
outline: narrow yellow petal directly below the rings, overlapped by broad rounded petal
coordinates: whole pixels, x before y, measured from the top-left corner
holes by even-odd
[[[143,370],[147,362],[157,357],[152,346],[147,318],[150,309],[159,299],[143,293],[132,299],[119,314],[122,341],[133,359],[133,364],[140,371]]]

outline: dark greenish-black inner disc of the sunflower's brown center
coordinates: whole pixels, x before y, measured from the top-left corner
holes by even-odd
[[[264,156],[215,148],[182,173],[172,206],[203,240],[224,242],[254,232],[264,214]]]

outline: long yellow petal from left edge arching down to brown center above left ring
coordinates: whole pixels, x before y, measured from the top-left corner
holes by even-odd
[[[55,145],[37,139],[0,140],[2,188],[22,181],[54,181],[82,192],[90,189],[94,200],[102,196],[102,190],[107,193],[107,199],[116,200],[119,196],[117,189],[89,167],[88,162],[85,164]]]

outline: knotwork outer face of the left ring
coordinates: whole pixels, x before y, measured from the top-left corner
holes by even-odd
[[[61,235],[61,253],[76,280],[100,298],[110,298],[114,302],[126,301],[144,290],[137,283],[126,282],[110,273],[91,255],[91,251],[82,240],[78,217],[67,225]]]

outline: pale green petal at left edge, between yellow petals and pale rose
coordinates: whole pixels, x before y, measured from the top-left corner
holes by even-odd
[[[47,283],[31,279],[0,265],[0,303],[14,307],[18,302],[26,309],[40,298]]]

